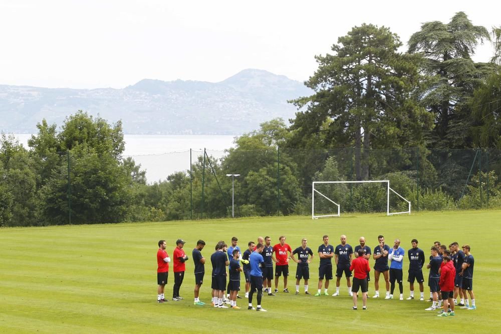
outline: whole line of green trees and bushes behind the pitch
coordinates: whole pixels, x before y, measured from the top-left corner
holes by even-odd
[[[235,172],[240,216],[311,213],[312,180],[390,179],[421,209],[498,206],[500,41],[500,28],[474,26],[462,12],[423,24],[406,52],[388,28],[354,27],[315,57],[305,82],[313,94],[289,101],[298,107],[290,125],[265,122],[223,158],[200,157],[153,184],[122,157],[121,122],[82,111],[60,130],[42,120],[28,148],[0,138],[0,225],[224,217],[224,174]],[[491,61],[473,62],[489,42]],[[384,197],[375,186],[325,191],[351,211],[377,211]]]

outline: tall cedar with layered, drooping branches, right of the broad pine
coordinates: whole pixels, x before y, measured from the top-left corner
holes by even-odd
[[[489,40],[487,30],[474,26],[463,12],[448,24],[423,24],[409,40],[408,52],[424,57],[421,70],[430,76],[421,104],[434,116],[434,148],[471,147],[471,138],[464,135],[471,126],[468,99],[492,66],[474,63],[470,57],[484,40]]]

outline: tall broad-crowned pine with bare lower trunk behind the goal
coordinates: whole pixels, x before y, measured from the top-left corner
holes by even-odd
[[[400,46],[388,28],[363,24],[338,39],[333,55],[316,56],[319,68],[305,83],[315,94],[291,101],[306,109],[291,120],[292,141],[354,146],[357,180],[369,178],[370,149],[422,144],[431,119],[413,96],[420,58]]]

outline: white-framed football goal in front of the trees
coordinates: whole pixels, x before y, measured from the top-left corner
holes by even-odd
[[[410,214],[410,201],[391,189],[389,180],[313,182],[312,219],[339,217],[341,206],[351,211],[386,211],[388,216]]]

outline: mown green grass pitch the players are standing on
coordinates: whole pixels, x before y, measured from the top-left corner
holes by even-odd
[[[294,216],[0,229],[0,332],[493,331],[499,328],[496,314],[500,306],[497,289],[501,285],[501,258],[495,245],[501,235],[500,221],[498,210],[423,212],[391,217],[347,215],[314,221],[310,217]],[[473,290],[478,309],[457,309],[455,317],[438,318],[436,312],[424,310],[430,304],[426,301],[371,298],[367,311],[354,311],[344,278],[338,297],[304,295],[303,286],[301,294],[295,295],[295,263],[290,264],[289,276],[289,289],[293,293],[265,295],[262,304],[268,310],[266,313],[193,305],[190,255],[196,240],[205,240],[207,245],[202,254],[208,259],[218,240],[229,244],[232,236],[238,237],[242,250],[249,240],[256,240],[258,236],[270,235],[273,245],[279,235],[286,235],[293,248],[301,244],[301,238],[307,237],[316,255],[310,264],[309,284],[310,291],[315,293],[319,261],[316,250],[323,234],[329,235],[334,246],[339,243],[339,236],[346,234],[353,247],[360,236],[365,236],[371,248],[377,243],[377,235],[384,234],[390,245],[395,238],[400,238],[406,251],[410,240],[417,238],[425,254],[435,240],[445,244],[468,243],[475,257]],[[185,251],[190,256],[181,287],[185,300],[158,304],[157,242],[166,239],[166,250],[171,255],[177,238],[187,241]],[[371,268],[373,263],[371,259]],[[405,258],[404,268],[407,267]],[[210,303],[209,260],[205,268],[200,299]],[[426,269],[424,274],[427,277]],[[242,288],[243,283],[242,275]],[[380,283],[384,295],[382,277]],[[169,276],[165,288],[168,299],[172,296],[172,285],[173,277]],[[282,287],[281,280],[279,288]],[[408,290],[405,282],[405,297]],[[335,291],[335,281],[331,281],[329,291],[331,294]],[[371,282],[369,293],[373,292]],[[425,297],[428,295],[425,286]],[[247,304],[245,299],[238,302],[240,306]]]

